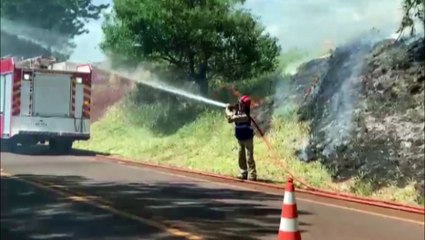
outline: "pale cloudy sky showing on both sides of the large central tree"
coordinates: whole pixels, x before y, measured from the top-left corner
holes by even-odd
[[[112,0],[93,2],[112,4]],[[244,7],[279,39],[283,51],[325,49],[372,27],[389,36],[397,30],[402,15],[401,0],[247,0]],[[71,61],[105,59],[98,47],[102,21],[88,23],[90,32],[76,37]]]

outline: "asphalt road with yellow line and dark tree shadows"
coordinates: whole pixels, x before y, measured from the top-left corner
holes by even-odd
[[[94,160],[1,153],[1,239],[276,239],[282,192]],[[235,165],[236,167],[236,165]],[[423,216],[297,194],[303,240],[420,240]]]

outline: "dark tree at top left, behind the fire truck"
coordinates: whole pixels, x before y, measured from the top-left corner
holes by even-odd
[[[2,0],[1,54],[68,59],[75,48],[73,38],[87,33],[85,23],[98,19],[108,6],[91,0]]]

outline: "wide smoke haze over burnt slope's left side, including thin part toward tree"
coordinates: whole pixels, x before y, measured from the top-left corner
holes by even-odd
[[[313,149],[320,149],[322,155],[329,157],[350,142],[366,58],[383,38],[378,31],[360,35],[338,47],[330,57],[304,64],[302,71],[286,83],[289,87],[284,86],[295,95],[289,103],[302,104],[305,111],[302,114],[309,115],[307,118],[312,121],[310,144]],[[310,146],[304,141],[302,147],[300,158],[310,160]]]

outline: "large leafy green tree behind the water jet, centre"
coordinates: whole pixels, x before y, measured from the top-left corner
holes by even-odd
[[[115,0],[101,48],[133,62],[184,70],[203,95],[208,79],[238,81],[272,71],[280,47],[244,0]]]

